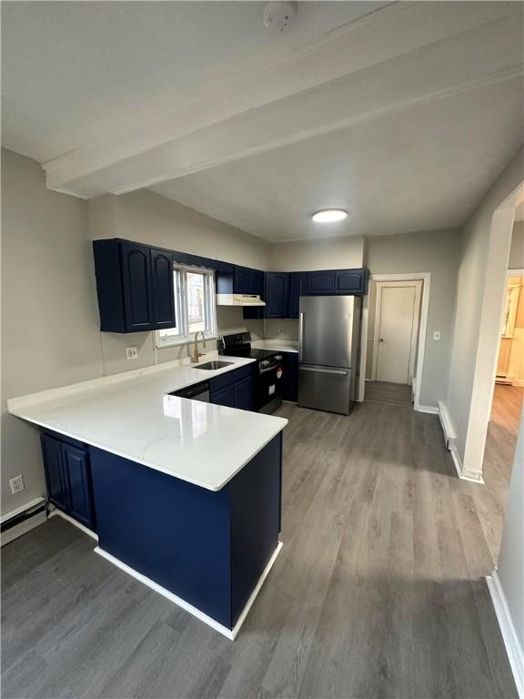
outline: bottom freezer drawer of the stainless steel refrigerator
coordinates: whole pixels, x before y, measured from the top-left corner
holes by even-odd
[[[348,415],[351,409],[351,370],[314,364],[298,366],[298,405]]]

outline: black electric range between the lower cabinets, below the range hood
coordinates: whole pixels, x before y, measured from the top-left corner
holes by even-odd
[[[251,347],[251,333],[238,332],[219,339],[218,354],[255,360],[255,403],[258,412],[274,412],[280,407],[284,392],[284,369],[282,354],[278,349],[254,349]]]

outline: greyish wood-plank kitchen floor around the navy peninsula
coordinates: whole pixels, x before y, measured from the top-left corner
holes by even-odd
[[[54,518],[3,550],[3,696],[517,697],[437,417],[285,405],[284,547],[235,643]],[[496,525],[497,520],[493,520]]]

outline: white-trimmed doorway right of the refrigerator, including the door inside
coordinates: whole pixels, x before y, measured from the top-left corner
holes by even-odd
[[[374,275],[363,312],[360,400],[418,410],[429,274]]]

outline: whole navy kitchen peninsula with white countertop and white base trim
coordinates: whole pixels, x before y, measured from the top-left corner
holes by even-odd
[[[42,428],[50,500],[97,532],[96,552],[234,638],[281,546],[287,420],[171,395],[252,361],[221,359],[46,390],[8,410]]]

